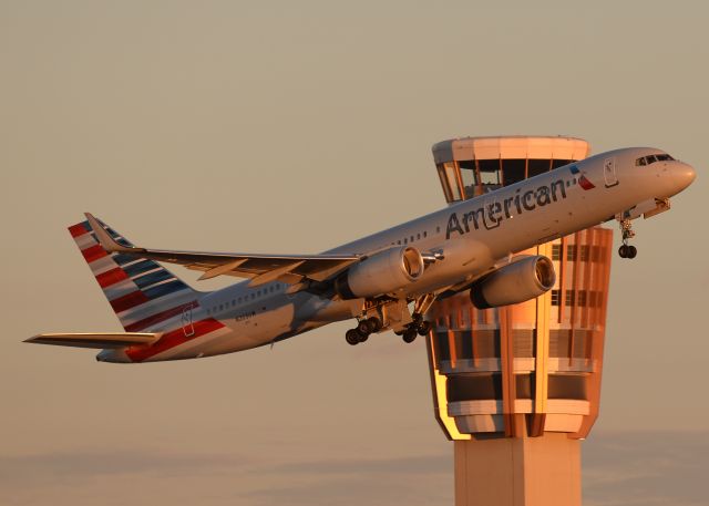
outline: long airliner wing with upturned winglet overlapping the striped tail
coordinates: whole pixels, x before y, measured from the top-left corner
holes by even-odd
[[[86,213],[86,218],[99,242],[106,251],[179,264],[187,269],[204,271],[199,279],[236,276],[250,278],[250,286],[254,287],[275,280],[290,285],[306,280],[325,281],[360,260],[353,255],[251,255],[173,251],[124,246],[115,241],[90,213]]]

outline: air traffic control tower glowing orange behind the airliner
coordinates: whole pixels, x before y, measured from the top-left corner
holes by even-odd
[[[433,146],[449,204],[585,158],[572,137],[467,137]],[[476,309],[467,292],[429,310],[434,413],[454,443],[456,506],[580,505],[580,441],[600,401],[613,233],[593,227],[545,255],[556,286]]]

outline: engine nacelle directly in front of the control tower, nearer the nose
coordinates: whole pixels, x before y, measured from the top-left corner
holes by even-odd
[[[540,297],[555,282],[552,260],[544,256],[521,257],[475,282],[470,300],[477,309],[516,304]]]

